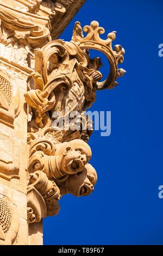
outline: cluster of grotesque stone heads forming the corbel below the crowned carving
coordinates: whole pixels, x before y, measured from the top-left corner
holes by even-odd
[[[79,139],[58,144],[50,139],[33,141],[27,187],[29,223],[58,214],[62,195],[87,196],[94,190],[97,174],[87,163],[90,158],[89,145]]]

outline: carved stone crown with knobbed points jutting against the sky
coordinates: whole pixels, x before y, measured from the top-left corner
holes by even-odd
[[[83,31],[87,33],[85,37]],[[123,63],[124,48],[121,45],[115,45],[114,50],[112,50],[112,41],[116,39],[116,31],[109,33],[106,40],[99,37],[99,34],[104,34],[104,32],[104,28],[99,27],[97,21],[92,21],[90,26],[85,26],[83,29],[80,22],[76,22],[72,36],[72,42],[78,44],[80,49],[101,51],[109,60],[110,73],[105,81],[97,82],[97,90],[112,89],[118,84],[116,79],[126,73],[125,70],[117,68],[118,63]]]

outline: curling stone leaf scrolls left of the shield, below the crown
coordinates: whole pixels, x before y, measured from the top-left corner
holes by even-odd
[[[38,128],[44,126],[43,118],[47,111],[54,106],[60,110],[62,97],[72,87],[67,71],[59,69],[60,64],[66,66],[69,59],[60,41],[50,42],[35,51],[35,72],[32,74],[35,86],[27,93],[26,101],[34,109]]]

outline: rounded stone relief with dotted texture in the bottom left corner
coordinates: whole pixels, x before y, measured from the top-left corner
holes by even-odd
[[[0,245],[12,245],[19,228],[18,212],[10,199],[0,197]]]

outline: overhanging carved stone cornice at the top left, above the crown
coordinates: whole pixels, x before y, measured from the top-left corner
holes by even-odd
[[[0,43],[11,52],[2,47],[1,57],[33,68],[33,50],[57,38],[84,2],[0,0]]]

